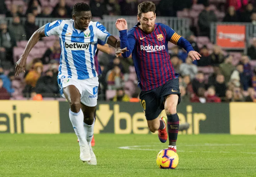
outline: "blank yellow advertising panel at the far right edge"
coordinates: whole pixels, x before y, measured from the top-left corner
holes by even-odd
[[[230,134],[256,135],[256,103],[230,103]]]

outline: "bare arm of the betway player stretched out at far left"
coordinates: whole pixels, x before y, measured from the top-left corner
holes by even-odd
[[[42,26],[34,34],[31,36],[31,38],[28,40],[28,43],[25,47],[24,52],[21,55],[21,58],[17,61],[17,65],[15,67],[15,75],[17,76],[21,71],[25,73],[25,67],[26,67],[26,62],[27,62],[27,57],[28,54],[30,53],[31,49],[34,47],[34,45],[37,44],[39,39],[42,37],[45,37],[46,35],[44,34],[44,28],[46,25]]]

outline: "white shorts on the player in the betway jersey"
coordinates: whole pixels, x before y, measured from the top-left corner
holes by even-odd
[[[86,80],[79,80],[72,78],[71,76],[66,75],[59,75],[58,76],[58,84],[60,87],[60,94],[65,98],[63,94],[63,88],[74,85],[76,89],[80,92],[80,99],[81,103],[94,107],[97,105],[97,98],[98,98],[98,77],[86,79]]]

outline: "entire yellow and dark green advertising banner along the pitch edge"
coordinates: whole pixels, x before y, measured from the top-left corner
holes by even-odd
[[[256,103],[181,103],[177,107],[180,122],[191,125],[182,134],[256,135],[255,110]],[[151,133],[140,103],[98,102],[96,115],[96,134]],[[0,101],[0,133],[64,132],[74,132],[68,102]]]

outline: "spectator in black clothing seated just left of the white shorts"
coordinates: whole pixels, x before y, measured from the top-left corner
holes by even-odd
[[[55,97],[59,93],[57,78],[53,78],[51,69],[48,69],[45,75],[37,80],[35,91],[43,97]]]

